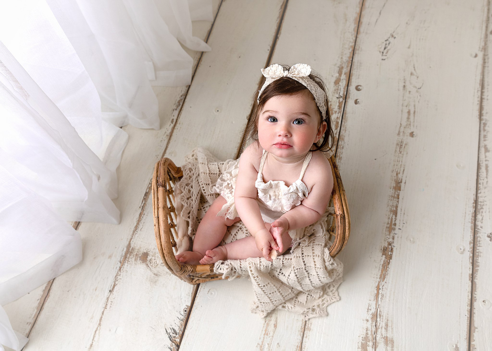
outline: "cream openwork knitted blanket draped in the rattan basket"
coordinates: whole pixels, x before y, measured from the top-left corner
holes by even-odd
[[[194,237],[200,219],[218,194],[211,189],[228,162],[220,162],[208,151],[196,148],[185,159],[183,178],[176,185],[181,216],[188,223],[187,233]],[[328,212],[305,229],[299,245],[273,262],[264,258],[226,260],[215,263],[214,271],[229,280],[250,277],[255,299],[251,311],[265,317],[274,309],[285,309],[306,319],[326,316],[327,307],[338,301],[337,288],[342,281],[342,263],[328,250]],[[221,245],[249,235],[240,221],[229,227]],[[187,250],[187,240],[178,238],[178,250]],[[180,247],[180,243],[184,243]]]

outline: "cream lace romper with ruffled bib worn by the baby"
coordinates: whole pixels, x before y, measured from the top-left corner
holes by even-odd
[[[300,205],[301,201],[307,198],[309,191],[302,179],[306,173],[307,165],[311,160],[311,154],[312,151],[309,151],[304,159],[299,179],[290,186],[287,186],[283,180],[269,180],[266,183],[263,181],[263,166],[268,155],[268,151],[263,150],[255,187],[258,189],[256,201],[258,202],[261,217],[265,223],[275,222],[283,213]],[[219,176],[212,190],[222,195],[226,200],[226,204],[222,206],[217,216],[234,219],[238,217],[236,205],[234,204],[234,188],[238,176],[239,159],[231,160],[229,163],[224,164],[224,167],[224,172]],[[299,240],[303,234],[304,228],[289,232],[289,235],[294,240]]]

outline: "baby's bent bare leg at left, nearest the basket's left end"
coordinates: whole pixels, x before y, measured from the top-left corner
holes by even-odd
[[[226,200],[220,195],[215,199],[196,230],[193,251],[185,251],[176,255],[178,262],[198,264],[207,250],[217,247],[225,235],[227,226],[239,221],[239,217],[234,220],[224,220],[223,216],[217,216],[225,203]]]

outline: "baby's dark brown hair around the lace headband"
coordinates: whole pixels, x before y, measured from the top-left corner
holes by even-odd
[[[282,65],[282,66],[284,68],[286,68],[287,70],[290,68],[287,65]],[[326,94],[326,87],[325,87],[322,79],[318,75],[314,74],[311,71],[309,78],[311,78],[321,89],[323,89],[323,91]],[[265,83],[265,79],[262,80],[262,85],[263,85],[263,83]],[[249,120],[248,124],[246,125],[246,129],[245,129],[245,135],[246,135],[247,139],[251,139],[254,141],[258,140],[258,117],[260,115],[261,110],[263,109],[263,107],[265,107],[265,104],[268,100],[270,100],[272,97],[278,96],[278,95],[299,95],[304,90],[309,91],[302,83],[299,83],[298,81],[296,81],[292,78],[282,77],[282,78],[278,78],[277,80],[270,83],[267,87],[265,87],[265,89],[262,91],[262,93],[260,95],[258,104],[256,104],[256,101],[258,99],[258,92],[256,92],[253,96],[253,106],[255,106],[255,107],[253,109],[253,114],[251,115],[252,118]],[[311,98],[314,101],[314,96],[312,96],[312,94],[310,92],[309,92],[309,96],[311,96]],[[335,135],[334,135],[333,129],[332,129],[332,121],[331,121],[331,116],[330,116],[330,108],[328,105],[328,99],[326,102],[327,102],[327,104],[326,104],[326,111],[325,111],[325,113],[326,113],[325,122],[327,123],[327,128],[326,128],[325,134],[318,141],[318,143],[313,144],[313,146],[315,146],[314,151],[316,151],[316,150],[328,151],[333,147],[333,140],[335,138]],[[319,107],[317,105],[316,105],[316,107],[317,107],[318,112],[319,112],[320,126],[321,126],[321,122],[323,121],[323,119],[322,119],[323,117],[321,117],[322,114],[321,114],[321,111],[319,110]]]

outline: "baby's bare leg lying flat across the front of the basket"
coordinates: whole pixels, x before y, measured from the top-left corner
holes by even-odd
[[[269,223],[265,223],[265,226],[270,229]],[[290,247],[291,242],[292,238],[289,232],[282,234],[283,251],[280,254],[283,254]],[[200,263],[215,263],[219,260],[243,260],[248,257],[263,257],[262,252],[256,247],[254,237],[251,235],[223,246],[218,246],[213,250],[208,250],[204,258],[200,260]]]

